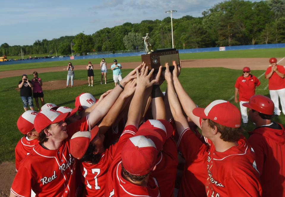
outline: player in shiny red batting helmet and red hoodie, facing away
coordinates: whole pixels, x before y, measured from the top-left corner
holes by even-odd
[[[252,96],[248,103],[249,119],[256,128],[248,132],[248,141],[256,155],[262,196],[285,196],[285,132],[281,124],[272,122],[274,103],[266,96]]]

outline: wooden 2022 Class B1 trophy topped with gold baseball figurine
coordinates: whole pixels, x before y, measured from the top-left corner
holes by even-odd
[[[158,72],[159,67],[162,66],[162,69],[165,70],[165,65],[168,63],[170,65],[169,69],[172,71],[174,69],[173,61],[176,61],[179,65],[179,53],[176,49],[163,49],[153,51],[151,48],[151,43],[148,42],[149,34],[147,33],[143,37],[145,52],[147,54],[141,55],[142,62],[145,62],[148,66],[148,70],[154,69],[154,72]]]

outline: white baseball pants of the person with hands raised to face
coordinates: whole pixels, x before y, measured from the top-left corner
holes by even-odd
[[[274,114],[280,115],[281,110],[279,109],[279,99],[282,107],[282,113],[285,114],[285,88],[279,90],[269,90],[270,98],[274,103]]]

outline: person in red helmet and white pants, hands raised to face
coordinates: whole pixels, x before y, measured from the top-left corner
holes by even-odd
[[[274,103],[274,114],[279,116],[281,113],[279,109],[279,96],[282,113],[285,115],[285,69],[283,66],[277,64],[277,59],[274,57],[269,59],[269,63],[271,66],[266,69],[265,78],[269,80],[268,89],[270,98]]]

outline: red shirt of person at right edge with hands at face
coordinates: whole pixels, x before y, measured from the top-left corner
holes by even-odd
[[[285,74],[285,69],[281,65],[276,65],[277,70],[281,72],[282,74]],[[268,67],[265,71],[265,75],[269,74],[271,72],[272,67]],[[281,78],[276,72],[273,72],[271,77],[268,81],[268,89],[269,90],[280,90],[285,88],[285,79]]]

